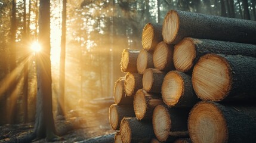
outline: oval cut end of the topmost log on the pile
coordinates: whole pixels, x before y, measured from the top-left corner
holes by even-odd
[[[177,36],[179,29],[179,18],[177,11],[168,11],[164,18],[164,23],[162,27],[162,36],[165,43],[171,43]]]

